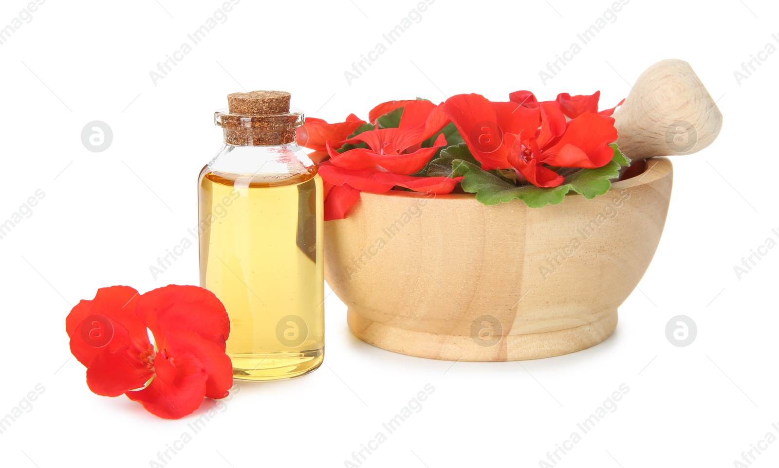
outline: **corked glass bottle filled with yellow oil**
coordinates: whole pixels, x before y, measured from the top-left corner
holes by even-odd
[[[290,93],[227,100],[224,147],[199,176],[200,286],[227,308],[234,378],[297,377],[324,359],[322,178]]]

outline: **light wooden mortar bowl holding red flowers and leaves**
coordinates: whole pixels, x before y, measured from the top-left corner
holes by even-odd
[[[636,168],[605,195],[541,209],[362,192],[345,220],[325,223],[327,283],[352,332],[397,353],[516,361],[583,350],[612,334],[663,232],[671,162]]]

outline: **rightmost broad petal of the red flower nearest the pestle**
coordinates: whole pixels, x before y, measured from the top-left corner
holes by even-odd
[[[616,139],[613,118],[586,112],[568,122],[565,135],[542,152],[539,162],[559,167],[603,167],[614,157],[608,145]]]

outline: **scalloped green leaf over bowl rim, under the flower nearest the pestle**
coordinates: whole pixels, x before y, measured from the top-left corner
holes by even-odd
[[[603,195],[612,187],[612,179],[619,178],[619,170],[629,164],[629,160],[619,151],[616,144],[611,145],[614,157],[604,167],[597,169],[580,169],[566,177],[565,183],[559,187],[541,188],[534,185],[514,185],[497,174],[492,174],[464,159],[452,161],[451,177],[463,176],[460,183],[465,192],[476,194],[476,199],[485,205],[495,205],[521,199],[530,208],[541,208],[547,204],[556,205],[566,198],[568,192],[584,195],[592,199]],[[458,146],[459,148],[459,146]],[[449,149],[447,148],[447,151]]]

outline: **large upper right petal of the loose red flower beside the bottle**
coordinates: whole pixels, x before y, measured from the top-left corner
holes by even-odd
[[[209,290],[171,284],[142,294],[136,314],[158,341],[174,329],[191,329],[224,349],[230,336],[230,318]]]

